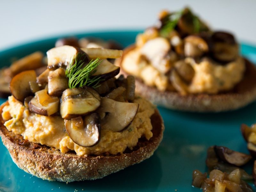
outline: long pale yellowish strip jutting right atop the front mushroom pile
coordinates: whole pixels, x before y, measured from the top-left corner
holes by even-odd
[[[104,49],[104,48],[81,48],[91,59],[119,58],[122,56],[122,50]]]

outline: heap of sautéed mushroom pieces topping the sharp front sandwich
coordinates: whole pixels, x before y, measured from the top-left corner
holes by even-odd
[[[74,65],[71,60],[74,61],[77,54],[83,55],[81,62],[76,63],[81,64],[78,67],[82,69],[100,58],[89,74],[97,79],[97,86],[92,82],[70,88],[67,69]],[[10,82],[10,90],[29,111],[43,116],[61,116],[70,138],[82,147],[91,147],[99,142],[101,129],[120,132],[127,128],[139,108],[138,103],[132,103],[134,77],[116,79],[120,68],[107,60],[121,55],[120,50],[55,47],[47,52],[48,66],[43,73],[37,76],[35,70],[27,70],[17,74]]]

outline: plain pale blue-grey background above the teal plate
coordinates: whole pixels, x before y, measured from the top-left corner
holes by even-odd
[[[229,30],[239,41],[256,44],[255,0],[1,0],[0,50],[60,34],[144,29],[156,23],[161,10],[186,5],[212,28]]]

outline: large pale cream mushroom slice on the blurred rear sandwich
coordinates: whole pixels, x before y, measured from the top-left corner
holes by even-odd
[[[166,73],[171,68],[169,59],[166,58],[170,49],[171,45],[167,39],[157,37],[147,41],[140,52],[157,70],[161,73]]]

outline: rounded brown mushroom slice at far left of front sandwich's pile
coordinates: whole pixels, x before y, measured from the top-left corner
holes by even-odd
[[[12,95],[19,101],[31,95],[30,81],[36,81],[36,72],[34,70],[23,71],[14,76],[10,82],[10,91]]]

